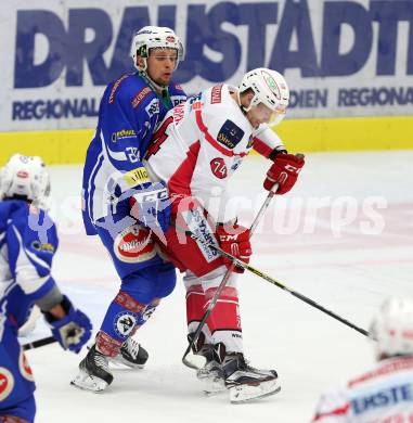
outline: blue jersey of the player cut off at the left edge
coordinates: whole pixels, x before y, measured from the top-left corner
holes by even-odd
[[[57,245],[56,228],[43,210],[0,201],[0,316],[17,329],[35,300],[55,286],[51,266]]]

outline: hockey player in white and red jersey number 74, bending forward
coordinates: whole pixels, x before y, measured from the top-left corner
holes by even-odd
[[[273,163],[264,188],[279,183],[278,194],[289,191],[304,158],[288,154],[270,129],[282,120],[288,87],[274,70],[247,73],[238,87],[211,87],[169,112],[154,134],[145,162],[153,180],[167,183],[175,227],[165,233],[164,253],[185,271],[189,336],[196,331],[208,302],[231,265],[219,254],[185,235],[190,230],[207,243],[244,261],[249,260],[249,231],[236,223],[236,210],[227,207],[228,182],[251,149]],[[220,194],[221,207],[217,204]],[[230,389],[232,401],[263,397],[280,390],[274,370],[248,366],[243,354],[235,268],[196,342],[195,352],[207,359],[199,379]],[[240,387],[245,393],[240,394]]]

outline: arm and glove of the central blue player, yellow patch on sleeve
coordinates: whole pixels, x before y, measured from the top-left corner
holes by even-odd
[[[102,133],[107,157],[115,168],[108,182],[113,187],[108,189],[118,191],[115,195],[118,200],[129,202],[130,214],[140,223],[165,232],[170,225],[169,195],[165,185],[151,181],[141,157],[141,144],[149,142],[156,123],[149,107],[152,102],[146,102],[146,107],[143,104],[133,107],[130,94],[124,90],[107,108],[111,115],[104,119]]]

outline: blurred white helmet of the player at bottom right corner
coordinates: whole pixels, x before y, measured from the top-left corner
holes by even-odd
[[[372,321],[376,358],[413,355],[413,298],[385,300]]]

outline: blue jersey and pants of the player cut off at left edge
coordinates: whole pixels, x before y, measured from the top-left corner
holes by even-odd
[[[24,201],[0,201],[0,415],[34,419],[35,383],[17,330],[55,286],[56,248],[56,229],[44,211]]]

